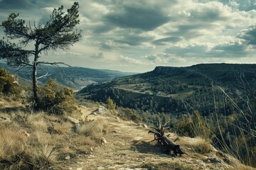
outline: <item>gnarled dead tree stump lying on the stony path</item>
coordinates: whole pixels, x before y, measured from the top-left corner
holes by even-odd
[[[162,125],[161,121],[158,120],[156,128],[151,127],[151,130],[149,130],[149,133],[154,133],[154,140],[151,140],[150,142],[157,141],[159,145],[166,148],[169,152],[173,151],[175,156],[177,156],[177,154],[180,154],[180,156],[182,154],[186,154],[181,150],[179,145],[176,145],[174,142],[171,141],[171,139],[169,138],[169,135],[168,136],[164,135],[164,131],[169,128],[169,127],[166,127],[168,123],[169,122]]]

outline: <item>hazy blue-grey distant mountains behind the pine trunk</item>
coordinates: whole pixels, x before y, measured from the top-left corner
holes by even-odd
[[[16,72],[18,68],[11,68],[6,63],[0,62],[0,67],[4,67],[9,72]],[[23,79],[32,79],[30,68],[18,70],[16,74]],[[38,81],[45,82],[49,77],[63,86],[79,90],[88,84],[97,84],[103,81],[110,81],[117,77],[124,77],[134,73],[124,73],[107,69],[88,69],[84,67],[53,67],[40,65],[38,66]]]

